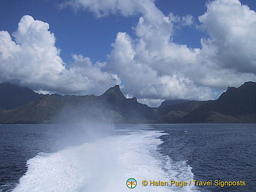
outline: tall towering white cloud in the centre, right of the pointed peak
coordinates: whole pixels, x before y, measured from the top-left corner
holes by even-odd
[[[136,95],[143,103],[152,101],[153,104],[159,98],[207,100],[216,97],[210,88],[196,85],[187,77],[188,69],[196,63],[200,50],[171,40],[175,24],[179,27],[189,25],[192,18],[173,14],[165,16],[156,7],[154,10],[153,14],[142,12],[133,28],[136,39],[127,33],[117,34],[107,60],[108,71],[117,73],[125,82],[123,91],[126,94]]]

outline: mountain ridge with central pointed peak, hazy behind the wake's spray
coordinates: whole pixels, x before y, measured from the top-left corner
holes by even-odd
[[[119,85],[103,95],[40,95],[21,107],[0,111],[0,123],[72,123],[89,119],[114,123],[149,123],[153,110],[127,99]]]

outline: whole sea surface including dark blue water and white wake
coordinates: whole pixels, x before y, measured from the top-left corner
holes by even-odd
[[[2,124],[0,149],[0,191],[256,191],[256,124]]]

